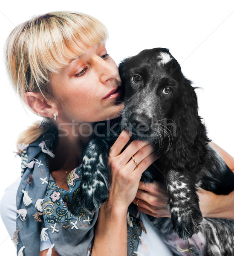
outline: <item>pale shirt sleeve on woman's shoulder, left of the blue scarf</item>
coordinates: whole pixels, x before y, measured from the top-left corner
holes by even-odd
[[[6,188],[0,201],[0,215],[11,238],[16,227],[16,194],[20,180],[21,178],[18,177]]]

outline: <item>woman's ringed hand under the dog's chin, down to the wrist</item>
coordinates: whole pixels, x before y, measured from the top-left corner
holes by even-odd
[[[149,142],[139,140],[133,140],[121,152],[129,140],[129,133],[126,130],[122,131],[110,148],[108,158],[111,187],[108,203],[124,207],[126,210],[136,197],[142,173],[159,158]]]

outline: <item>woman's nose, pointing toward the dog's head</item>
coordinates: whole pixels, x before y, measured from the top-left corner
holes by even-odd
[[[105,83],[110,79],[116,79],[116,77],[119,76],[118,67],[115,62],[113,60],[107,61],[102,58],[98,61],[98,73],[102,83]]]

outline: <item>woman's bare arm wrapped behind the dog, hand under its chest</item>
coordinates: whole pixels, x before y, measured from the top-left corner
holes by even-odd
[[[215,143],[212,142],[211,145],[234,172],[234,158]],[[234,191],[228,195],[216,195],[213,192],[199,189],[197,193],[203,217],[234,218]],[[139,211],[154,217],[170,217],[170,212],[167,208],[167,190],[157,182],[146,184],[140,182],[133,204],[138,204]]]

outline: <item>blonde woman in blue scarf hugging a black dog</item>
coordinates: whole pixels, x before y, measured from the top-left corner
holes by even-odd
[[[106,38],[98,20],[75,12],[35,17],[17,26],[8,38],[6,63],[15,90],[46,120],[21,135],[22,178],[14,184],[13,198],[9,199],[7,190],[2,201],[1,209],[6,209],[17,198],[13,212],[17,214],[18,255],[39,255],[39,251],[40,256],[86,255],[90,247],[92,256],[136,255],[145,252],[144,242],[149,249],[146,255],[155,255],[156,250],[159,255],[170,255],[145,215],[140,213],[138,218],[136,207],[130,205],[133,202],[141,212],[170,217],[165,189],[157,183],[139,182],[159,156],[152,145],[136,140],[122,152],[130,140],[127,131],[121,132],[109,152],[108,201],[99,212],[90,213],[75,204],[82,175],[77,166],[95,131],[94,122],[119,116],[124,105],[118,68],[107,54]],[[225,160],[234,165],[230,156]],[[231,195],[201,190],[202,212],[233,218]],[[215,201],[207,205],[210,196]],[[219,201],[224,204],[220,213]],[[5,223],[11,221],[10,210],[2,210],[2,216]]]

